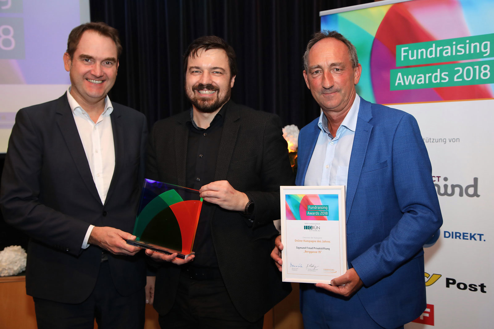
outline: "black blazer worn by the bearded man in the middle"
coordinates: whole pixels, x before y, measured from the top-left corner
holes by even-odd
[[[254,220],[216,206],[211,236],[221,276],[239,313],[248,321],[262,317],[291,291],[270,253],[280,218],[280,185],[293,185],[287,142],[280,118],[229,101],[216,162],[215,180],[228,180],[254,201]],[[147,149],[146,177],[185,186],[189,111],[157,122]],[[197,251],[196,257],[201,257]],[[175,300],[178,266],[158,269],[154,307],[166,314]]]

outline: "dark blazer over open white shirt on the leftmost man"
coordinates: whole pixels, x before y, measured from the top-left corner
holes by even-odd
[[[101,249],[82,241],[89,224],[132,232],[143,182],[147,138],[143,114],[112,103],[115,171],[103,205],[67,95],[21,109],[1,178],[5,221],[27,233],[26,290],[34,297],[80,303],[94,288]],[[123,294],[145,285],[142,255],[108,259]]]

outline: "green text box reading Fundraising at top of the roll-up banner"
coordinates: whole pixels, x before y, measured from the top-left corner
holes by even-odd
[[[396,45],[396,66],[444,63],[494,57],[494,33]]]

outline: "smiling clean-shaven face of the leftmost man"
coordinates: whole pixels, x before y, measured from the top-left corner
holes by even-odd
[[[117,46],[111,38],[87,30],[72,60],[64,54],[64,64],[70,72],[71,95],[81,106],[94,105],[105,98],[117,78]]]

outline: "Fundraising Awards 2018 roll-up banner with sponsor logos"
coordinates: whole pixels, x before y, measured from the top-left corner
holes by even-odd
[[[357,48],[357,93],[411,113],[432,162],[444,224],[424,246],[427,308],[405,328],[492,328],[494,1],[383,0],[320,15]]]

